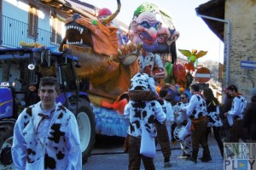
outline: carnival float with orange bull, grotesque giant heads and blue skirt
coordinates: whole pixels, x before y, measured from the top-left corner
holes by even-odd
[[[135,25],[132,25],[128,34],[130,42],[120,44],[117,37],[119,28],[109,24],[119,14],[121,4],[119,0],[117,3],[117,10],[102,20],[91,20],[79,14],[68,19],[58,18],[67,27],[60,51],[68,51],[79,58],[81,67],[76,71],[81,82],[84,82],[81,88],[88,87],[86,91],[96,116],[96,132],[125,137],[128,122],[122,118],[123,111],[119,108],[124,108],[128,102],[127,90],[131,77],[139,71],[137,57],[141,49],[170,54],[172,48],[172,53],[176,53],[172,43],[177,40],[179,33],[172,24],[172,17],[156,5],[143,3],[136,9],[131,23],[144,20],[149,26],[148,32],[137,34],[139,31],[135,31]],[[145,8],[147,5],[151,5],[150,10]],[[150,25],[150,22],[154,24]],[[143,29],[146,30],[145,27]],[[147,40],[141,37],[147,37]],[[172,54],[170,62],[173,66],[172,70],[168,70],[170,82],[185,88],[186,71],[183,65],[176,65],[175,60],[176,56]]]

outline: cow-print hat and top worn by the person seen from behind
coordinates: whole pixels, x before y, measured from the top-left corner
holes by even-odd
[[[131,79],[131,88],[129,91],[151,91],[152,84],[148,82],[152,77],[148,77],[146,73],[137,73]],[[147,128],[152,137],[156,136],[156,129],[154,127],[154,119],[158,122],[166,120],[166,114],[162,110],[162,106],[157,100],[129,100],[125,105],[124,115],[130,118],[130,126],[128,133],[133,137],[140,137],[142,135],[141,123]]]

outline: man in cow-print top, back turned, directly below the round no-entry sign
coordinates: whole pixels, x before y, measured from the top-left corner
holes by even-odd
[[[203,149],[203,156],[201,161],[212,161],[210,150],[205,138],[207,131],[207,105],[205,99],[201,96],[199,85],[192,84],[190,89],[191,98],[189,99],[189,105],[183,108],[183,111],[187,111],[187,115],[191,119],[191,140],[192,140],[192,157],[190,161],[197,162],[197,155],[199,151],[199,145]]]

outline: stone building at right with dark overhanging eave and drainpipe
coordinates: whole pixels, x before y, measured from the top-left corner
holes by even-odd
[[[235,84],[250,100],[256,85],[256,1],[212,0],[195,10],[224,42],[222,87]],[[241,61],[249,61],[253,68],[243,68]]]

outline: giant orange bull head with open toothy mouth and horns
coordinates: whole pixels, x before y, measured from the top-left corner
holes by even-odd
[[[60,51],[68,48],[79,58],[81,68],[77,73],[80,79],[89,79],[90,93],[111,99],[130,87],[131,77],[138,71],[137,56],[142,46],[130,43],[119,49],[118,28],[106,26],[119,13],[120,2],[117,2],[116,12],[102,22],[79,14],[61,19],[66,23],[67,32],[59,48]]]

